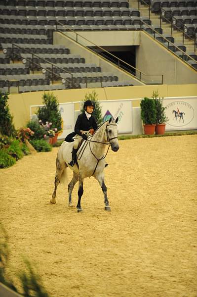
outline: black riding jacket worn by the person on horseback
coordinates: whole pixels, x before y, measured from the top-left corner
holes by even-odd
[[[91,127],[94,129],[94,131],[98,128],[94,116],[91,115],[91,117],[88,120],[84,112],[79,114],[75,124],[75,132],[78,135],[81,135],[80,130],[88,131]]]

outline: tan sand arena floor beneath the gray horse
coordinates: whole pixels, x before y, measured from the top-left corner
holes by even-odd
[[[119,146],[105,169],[110,213],[94,178],[84,181],[82,213],[68,208],[62,185],[49,203],[58,148],[0,170],[16,284],[25,255],[52,297],[197,297],[197,136]]]

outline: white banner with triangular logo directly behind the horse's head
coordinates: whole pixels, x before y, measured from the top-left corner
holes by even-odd
[[[111,117],[118,117],[118,133],[132,133],[132,101],[128,100],[105,100],[99,101],[102,109],[103,121]]]

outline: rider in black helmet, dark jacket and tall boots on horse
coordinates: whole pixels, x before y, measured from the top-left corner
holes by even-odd
[[[92,115],[95,108],[95,104],[91,100],[87,100],[84,102],[83,109],[84,112],[79,114],[78,119],[75,124],[75,132],[76,138],[73,144],[73,151],[72,151],[72,160],[69,163],[70,166],[74,166],[77,160],[77,151],[79,144],[81,142],[81,137],[84,140],[87,140],[88,136],[90,136],[90,128],[93,127],[94,131],[98,128],[96,120]]]

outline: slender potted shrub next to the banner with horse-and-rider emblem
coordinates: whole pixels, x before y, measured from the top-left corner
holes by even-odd
[[[163,106],[163,99],[158,96],[158,91],[153,92],[153,99],[156,105],[156,134],[163,135],[165,133],[165,123],[168,118],[165,115],[165,107]]]

